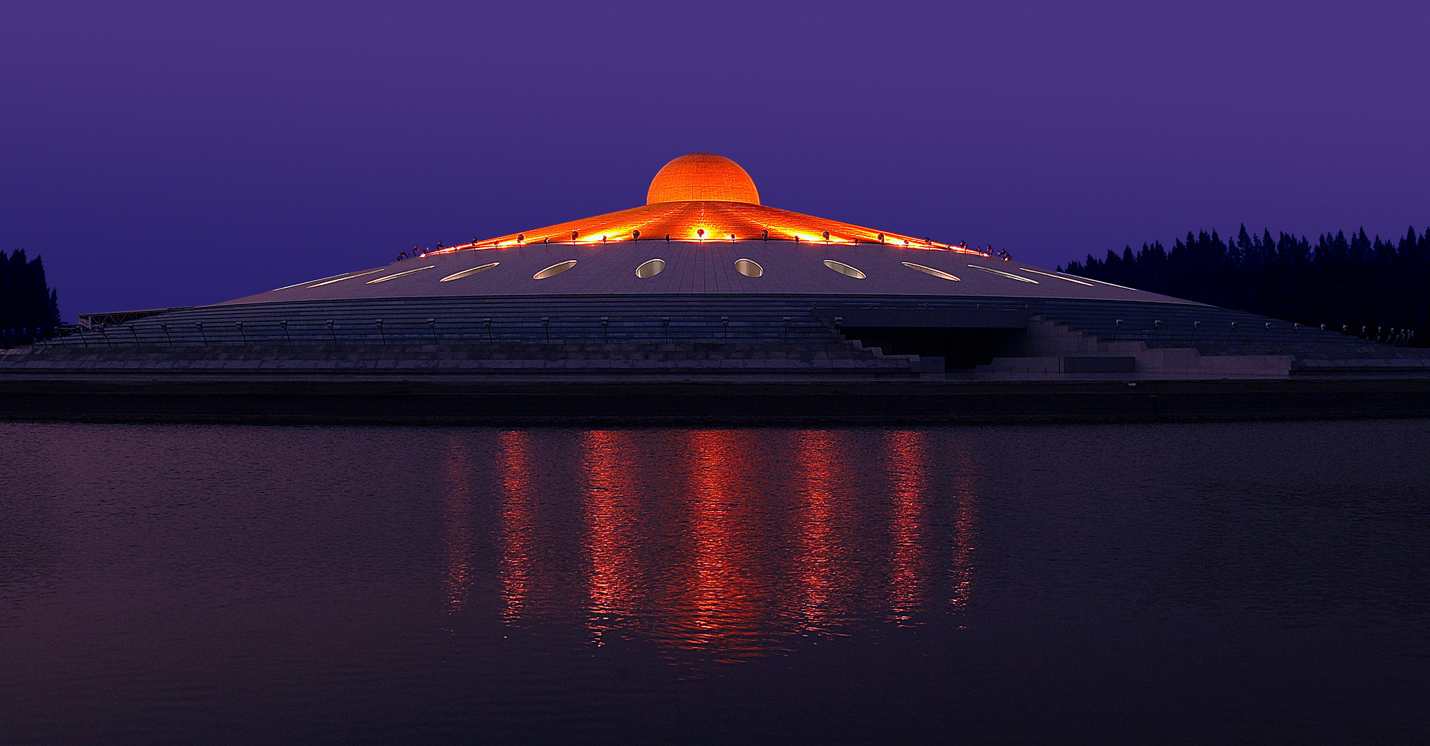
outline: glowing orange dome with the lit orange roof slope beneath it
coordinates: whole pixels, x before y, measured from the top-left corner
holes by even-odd
[[[531,243],[591,244],[644,240],[726,243],[765,240],[831,246],[881,243],[978,253],[951,243],[766,207],[759,203],[759,192],[745,169],[734,160],[711,153],[691,153],[666,163],[651,181],[645,204],[641,207],[508,233],[438,253]]]

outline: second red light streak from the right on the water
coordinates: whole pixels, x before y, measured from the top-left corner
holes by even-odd
[[[922,432],[892,432],[885,436],[888,446],[889,480],[894,487],[892,572],[889,577],[892,620],[907,623],[924,597],[922,557],[925,549],[925,440]]]

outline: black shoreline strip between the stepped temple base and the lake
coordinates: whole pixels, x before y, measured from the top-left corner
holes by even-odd
[[[1430,417],[1430,380],[0,380],[0,420],[10,422],[738,426],[1373,417]]]

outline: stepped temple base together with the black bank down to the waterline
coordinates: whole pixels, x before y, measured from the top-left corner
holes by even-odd
[[[1386,416],[1430,416],[1430,350],[1187,303],[313,300],[177,309],[0,352],[4,419],[748,424]]]

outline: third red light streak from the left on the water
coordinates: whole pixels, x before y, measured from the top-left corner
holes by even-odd
[[[582,437],[591,573],[588,625],[598,639],[629,616],[636,600],[633,530],[639,504],[626,459],[638,449],[631,440],[629,433],[612,430],[588,432]]]

